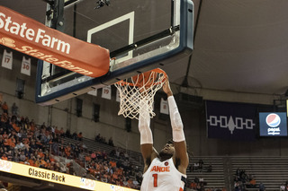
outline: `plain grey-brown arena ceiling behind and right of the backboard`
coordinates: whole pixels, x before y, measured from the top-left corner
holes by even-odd
[[[288,1],[193,0],[193,3],[193,54],[164,68],[171,82],[206,90],[286,93]],[[2,0],[0,4],[44,21],[46,3],[42,0]]]

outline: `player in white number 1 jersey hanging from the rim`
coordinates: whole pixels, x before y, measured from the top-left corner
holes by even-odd
[[[142,114],[139,115],[140,149],[145,164],[141,191],[184,190],[189,158],[183,124],[168,80],[163,85],[163,91],[166,92],[169,105],[173,142],[166,143],[159,153],[155,150],[149,127],[148,109],[140,107],[139,112]]]

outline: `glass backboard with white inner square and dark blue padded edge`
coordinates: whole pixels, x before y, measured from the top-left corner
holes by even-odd
[[[79,0],[64,7],[63,32],[110,51],[110,70],[93,78],[39,61],[36,102],[50,105],[150,69],[193,50],[191,0]],[[85,55],[84,55],[85,56]]]

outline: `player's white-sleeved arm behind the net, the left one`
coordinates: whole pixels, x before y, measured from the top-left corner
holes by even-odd
[[[157,157],[157,151],[153,147],[153,136],[150,129],[150,117],[148,114],[147,103],[142,100],[139,110],[139,133],[140,133],[140,150],[144,160],[144,172],[150,166],[151,161]]]

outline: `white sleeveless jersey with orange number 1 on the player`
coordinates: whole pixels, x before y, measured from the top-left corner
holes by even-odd
[[[172,158],[166,161],[155,158],[143,174],[141,191],[183,191],[186,177],[175,168]]]

